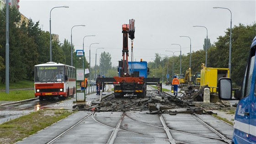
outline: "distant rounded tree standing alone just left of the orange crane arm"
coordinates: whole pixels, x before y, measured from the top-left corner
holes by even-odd
[[[100,57],[100,68],[101,68],[101,74],[106,75],[109,68],[112,67],[111,62],[111,55],[109,52],[101,52]]]

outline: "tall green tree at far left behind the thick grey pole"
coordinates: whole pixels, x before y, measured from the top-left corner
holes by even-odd
[[[0,45],[5,45],[5,13],[6,8],[0,10]],[[26,56],[22,55],[22,44],[20,43],[23,36],[22,31],[17,27],[17,23],[20,22],[21,15],[18,9],[11,6],[9,9],[9,51],[10,51],[10,81],[16,82],[27,75],[25,63],[22,61]],[[5,49],[0,50],[0,56],[5,60]],[[0,72],[2,82],[5,82],[5,71]]]

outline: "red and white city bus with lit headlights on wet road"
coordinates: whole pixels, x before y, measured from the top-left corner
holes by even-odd
[[[75,94],[75,67],[56,62],[35,65],[35,97],[66,99]]]

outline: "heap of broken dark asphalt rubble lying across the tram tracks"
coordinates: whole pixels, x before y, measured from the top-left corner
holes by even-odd
[[[147,111],[147,114],[169,113],[170,115],[176,115],[177,113],[213,114],[213,112],[204,109],[218,109],[222,107],[229,106],[228,104],[223,105],[222,103],[219,105],[216,103],[199,104],[194,103],[193,100],[181,100],[166,93],[155,94],[154,92],[148,91],[145,98],[115,98],[114,95],[111,95],[103,98],[99,104],[91,106],[75,105],[73,108],[74,110],[90,110],[96,112]]]

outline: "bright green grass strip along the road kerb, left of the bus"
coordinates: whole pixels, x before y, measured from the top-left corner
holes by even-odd
[[[35,98],[34,90],[0,92],[0,101],[20,101]]]

